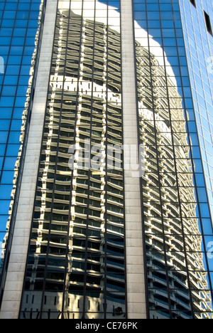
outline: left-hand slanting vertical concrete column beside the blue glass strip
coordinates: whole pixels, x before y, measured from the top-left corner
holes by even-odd
[[[43,38],[40,48],[38,75],[35,86],[31,126],[28,135],[26,159],[23,168],[21,192],[6,276],[4,297],[1,305],[0,319],[18,319],[21,305],[23,279],[26,269],[28,243],[31,232],[35,187],[43,136],[45,105],[48,94],[50,60],[53,50],[57,0],[47,0]]]

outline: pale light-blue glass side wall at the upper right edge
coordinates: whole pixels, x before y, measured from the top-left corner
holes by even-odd
[[[200,139],[204,174],[207,183],[211,212],[213,214],[213,36],[208,31],[205,15],[212,26],[211,1],[180,1],[183,33],[189,66],[192,97]]]

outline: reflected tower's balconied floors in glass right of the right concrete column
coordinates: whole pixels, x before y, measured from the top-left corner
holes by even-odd
[[[193,297],[196,311],[203,307],[212,312],[202,236],[196,218],[197,203],[182,97],[175,79],[170,77],[171,71],[165,82],[164,68],[155,55],[148,54],[138,44],[136,58],[138,63],[143,61],[147,65],[138,71],[138,110],[140,140],[146,145],[142,195],[148,281],[152,288],[149,302],[153,313],[158,308],[162,317],[167,316],[165,282],[169,280],[174,317],[188,317],[190,297]],[[155,68],[148,66],[150,61]],[[147,83],[151,70],[153,89]],[[196,290],[198,285],[200,292],[191,291],[193,296],[190,295],[189,286]],[[196,317],[200,318],[200,314]]]

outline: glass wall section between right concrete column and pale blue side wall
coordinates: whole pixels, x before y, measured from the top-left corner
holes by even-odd
[[[148,317],[212,319],[212,222],[179,1],[133,6]]]

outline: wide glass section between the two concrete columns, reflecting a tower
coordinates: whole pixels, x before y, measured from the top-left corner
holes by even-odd
[[[21,318],[126,317],[118,9],[58,1]]]

